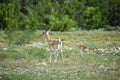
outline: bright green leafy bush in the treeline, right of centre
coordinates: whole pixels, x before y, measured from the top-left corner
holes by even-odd
[[[101,13],[98,7],[87,7],[84,12],[83,22],[87,29],[98,29],[101,23]]]

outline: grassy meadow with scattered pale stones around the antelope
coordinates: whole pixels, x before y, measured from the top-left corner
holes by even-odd
[[[40,37],[42,31],[22,32],[16,31],[9,39],[0,31],[0,80],[120,79],[120,32],[51,32],[52,38],[63,41],[64,62],[59,58],[57,63],[48,61],[50,52]]]

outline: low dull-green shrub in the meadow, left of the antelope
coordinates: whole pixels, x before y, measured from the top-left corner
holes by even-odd
[[[5,38],[7,38],[6,42],[8,44],[22,45],[29,43],[29,40],[32,39],[34,31],[5,30],[4,33],[7,35]]]

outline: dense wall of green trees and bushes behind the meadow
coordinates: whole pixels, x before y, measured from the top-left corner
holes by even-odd
[[[0,29],[69,31],[120,25],[120,1],[10,0],[0,2]]]

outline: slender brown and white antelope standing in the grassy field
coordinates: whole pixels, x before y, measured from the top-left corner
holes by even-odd
[[[57,62],[57,58],[59,55],[61,55],[61,58],[63,60],[63,52],[62,52],[62,41],[61,39],[51,39],[50,38],[50,30],[48,31],[45,31],[43,34],[45,36],[45,38],[47,39],[47,42],[48,42],[48,46],[49,46],[49,49],[50,49],[50,59],[49,59],[49,62],[52,61],[52,56],[54,55],[54,62]]]

